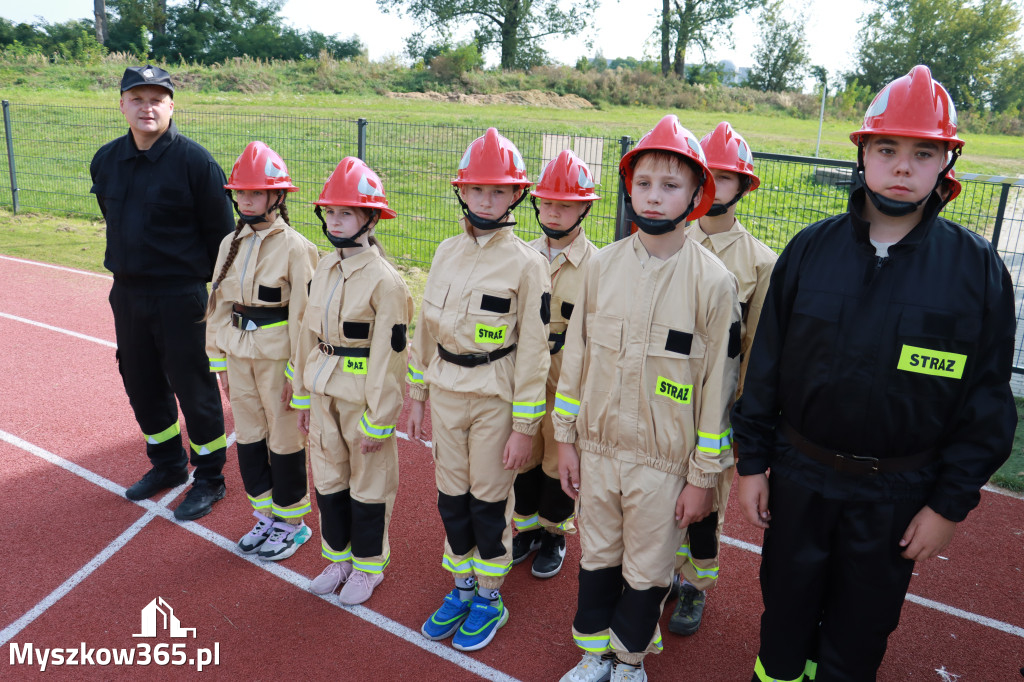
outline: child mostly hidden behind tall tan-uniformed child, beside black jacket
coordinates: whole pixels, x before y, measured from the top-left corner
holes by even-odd
[[[739,385],[736,388],[738,397],[743,391],[743,374],[754,343],[754,332],[761,317],[761,306],[768,293],[768,282],[777,256],[743,229],[736,219],[737,202],[761,183],[754,174],[754,156],[746,140],[723,121],[700,140],[700,148],[715,177],[715,203],[697,222],[686,227],[686,237],[718,256],[739,285],[741,341]],[[719,476],[711,514],[686,529],[683,544],[676,554],[676,570],[681,584],[679,601],[669,621],[669,631],[677,635],[692,635],[697,631],[703,616],[705,591],[718,581],[722,526],[725,524],[725,508],[735,470],[730,463]]]

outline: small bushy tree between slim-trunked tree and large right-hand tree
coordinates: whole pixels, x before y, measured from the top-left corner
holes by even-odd
[[[792,20],[784,15],[783,0],[774,0],[761,13],[761,42],[754,49],[756,66],[746,86],[763,92],[799,90],[811,58],[807,53],[804,12]]]

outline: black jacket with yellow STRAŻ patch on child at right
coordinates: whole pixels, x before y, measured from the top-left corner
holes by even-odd
[[[855,190],[847,213],[802,230],[775,264],[732,411],[738,470],[771,467],[833,499],[921,499],[961,521],[1017,425],[1013,283],[991,244],[937,217],[934,197],[877,257],[864,201]],[[798,454],[780,419],[841,453],[938,457],[908,473],[840,474]]]

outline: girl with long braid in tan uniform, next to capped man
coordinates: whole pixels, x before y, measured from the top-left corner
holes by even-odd
[[[250,142],[224,187],[239,214],[224,238],[207,307],[210,371],[234,414],[239,469],[256,524],[239,541],[246,554],[286,559],[312,535],[305,436],[289,399],[289,358],[316,268],[316,247],[288,224],[285,196],[297,191],[285,162]]]

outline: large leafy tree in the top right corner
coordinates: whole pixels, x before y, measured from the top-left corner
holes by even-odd
[[[990,101],[993,68],[1011,58],[1021,26],[1014,0],[874,0],[861,19],[857,70],[878,92],[925,63],[961,109]]]

